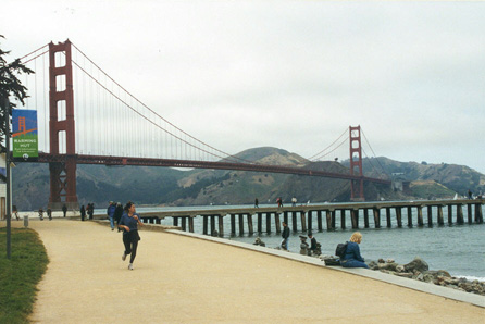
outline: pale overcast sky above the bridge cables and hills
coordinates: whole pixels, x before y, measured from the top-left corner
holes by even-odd
[[[69,38],[147,105],[228,153],[272,146],[310,158],[361,125],[377,157],[485,173],[485,2],[1,8],[11,59]]]

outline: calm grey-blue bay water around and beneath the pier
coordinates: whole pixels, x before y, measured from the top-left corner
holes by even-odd
[[[246,205],[251,208],[252,205]],[[263,207],[263,205],[261,205]],[[138,212],[150,211],[171,211],[171,210],[200,210],[200,209],[221,209],[228,207],[185,207],[185,208],[137,208]],[[240,205],[234,205],[231,208],[240,208]],[[447,209],[443,209],[444,219],[447,223]],[[98,210],[97,210],[98,212]],[[485,214],[485,211],[483,209]],[[105,213],[105,211],[99,210],[99,213]],[[455,213],[455,211],[453,211]],[[468,222],[467,209],[463,209],[464,220]],[[428,265],[430,270],[446,270],[453,276],[465,276],[468,278],[478,278],[485,281],[485,224],[465,224],[465,225],[437,225],[436,211],[433,210],[433,227],[427,226],[426,209],[423,209],[423,220],[425,225],[418,227],[418,216],[415,209],[413,209],[413,228],[408,228],[408,216],[403,211],[402,213],[402,228],[398,228],[395,223],[396,217],[394,211],[391,211],[393,227],[386,227],[385,212],[381,214],[381,228],[374,228],[373,216],[370,213],[369,222],[371,228],[360,228],[363,239],[360,245],[361,253],[366,260],[394,259],[396,262],[405,264],[414,259],[414,257],[421,257]],[[347,229],[339,229],[340,214],[336,216],[335,232],[325,230],[325,217],[323,217],[324,230],[319,233],[316,230],[316,214],[313,213],[313,236],[322,245],[323,254],[334,254],[335,247],[339,242],[344,242],[349,239],[352,234],[351,222],[349,213],[346,217]],[[283,215],[281,216],[283,221]],[[291,225],[291,216],[288,217],[289,227]],[[297,215],[298,228],[301,228],[300,216]],[[456,216],[453,216],[453,222]],[[257,230],[257,217],[252,217],[254,230]],[[162,224],[173,225],[171,217],[163,220]],[[236,233],[239,233],[238,217],[236,216]],[[195,219],[195,232],[202,234],[202,217]],[[209,222],[210,226],[210,222]],[[217,223],[215,225],[217,227]],[[360,215],[359,226],[363,227],[363,215]],[[349,228],[350,227],[350,228]],[[187,224],[188,228],[188,224]],[[282,238],[281,234],[276,234],[274,227],[274,216],[272,217],[272,233],[265,233],[265,216],[263,216],[263,232],[261,234],[248,235],[247,219],[245,217],[245,232],[242,236],[231,236],[231,217],[224,217],[224,238],[252,244],[256,237],[260,237],[269,248],[275,248],[279,245]],[[307,235],[300,229],[291,233],[289,240],[289,250],[294,253],[299,253],[300,238],[299,235]]]

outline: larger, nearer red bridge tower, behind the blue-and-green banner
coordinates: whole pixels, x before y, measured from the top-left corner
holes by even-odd
[[[65,61],[64,65],[61,65],[62,61]],[[65,203],[67,209],[77,210],[73,66],[69,40],[49,43],[49,114],[50,154],[57,158],[55,162],[49,163],[49,207],[57,210]],[[62,153],[59,147],[61,136],[65,139]]]

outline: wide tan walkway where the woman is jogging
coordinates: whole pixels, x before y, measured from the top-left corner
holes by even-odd
[[[21,222],[13,222],[20,226]],[[2,225],[4,226],[4,223]],[[484,323],[485,309],[223,244],[140,232],[135,270],[121,234],[30,221],[50,263],[35,323]]]

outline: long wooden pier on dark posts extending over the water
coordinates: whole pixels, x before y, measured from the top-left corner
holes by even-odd
[[[270,234],[272,230],[276,230],[276,233],[281,233],[281,223],[283,221],[294,232],[322,232],[324,230],[323,222],[325,222],[326,230],[335,230],[337,216],[339,216],[341,229],[347,229],[347,224],[352,229],[362,228],[361,220],[363,220],[363,228],[370,228],[371,222],[375,228],[381,228],[382,226],[390,228],[393,224],[397,227],[424,226],[425,223],[427,226],[435,224],[439,226],[445,225],[444,211],[446,212],[446,221],[449,225],[461,225],[464,223],[483,224],[482,205],[484,203],[485,199],[347,202],[285,208],[248,207],[238,209],[214,208],[210,210],[166,211],[140,213],[140,216],[144,223],[151,224],[160,224],[162,219],[172,217],[174,226],[181,226],[182,230],[191,233],[194,233],[194,220],[196,217],[202,217],[202,234],[224,236],[224,217],[226,216],[231,217],[231,235],[244,235],[246,230],[249,235],[254,234],[254,232]],[[425,212],[426,220],[424,219],[423,211]],[[314,216],[316,216],[316,228],[313,226]],[[433,221],[433,217],[436,219],[436,222]],[[406,219],[407,224],[403,222]],[[253,227],[254,220],[256,228]],[[347,220],[350,220],[350,223],[347,223]],[[247,224],[246,226],[245,222]],[[264,228],[263,225],[265,225]]]

